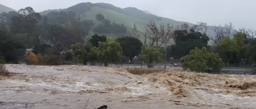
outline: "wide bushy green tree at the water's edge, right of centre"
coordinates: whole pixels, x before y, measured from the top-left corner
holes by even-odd
[[[195,48],[190,51],[189,55],[182,57],[184,59],[184,64],[182,68],[184,70],[203,72],[206,68],[210,68],[214,72],[221,70],[221,61],[219,60],[219,55],[217,53],[207,52],[207,48],[202,49]]]

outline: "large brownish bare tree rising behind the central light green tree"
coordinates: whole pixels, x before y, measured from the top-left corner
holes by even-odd
[[[149,39],[152,41],[151,45],[156,44],[157,47],[167,44],[173,38],[173,27],[170,24],[164,26],[159,24],[158,28],[154,20],[150,20],[147,24]]]

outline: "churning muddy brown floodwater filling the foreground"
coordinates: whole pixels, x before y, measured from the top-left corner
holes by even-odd
[[[0,109],[255,109],[256,76],[84,65],[6,65]]]

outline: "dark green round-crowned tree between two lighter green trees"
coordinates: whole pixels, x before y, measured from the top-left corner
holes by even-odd
[[[132,62],[133,57],[138,56],[141,53],[142,43],[139,39],[135,37],[121,37],[117,38],[116,42],[121,45],[123,49],[123,55],[126,57],[130,57],[130,61]]]

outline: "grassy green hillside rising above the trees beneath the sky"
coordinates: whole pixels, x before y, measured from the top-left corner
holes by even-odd
[[[96,28],[99,25],[102,25],[101,21],[96,20],[97,14],[102,14],[105,19],[110,20],[111,23],[117,23],[117,24],[124,24],[127,28],[127,30],[131,30],[132,25],[135,24],[137,26],[138,31],[146,31],[145,26],[148,24],[150,19],[154,19],[156,24],[168,24],[170,23],[171,26],[181,26],[183,23],[187,23],[189,26],[193,26],[194,24],[189,22],[180,22],[175,21],[170,18],[165,17],[158,17],[153,14],[147,14],[146,12],[128,7],[121,9],[119,7],[115,7],[112,4],[105,4],[105,3],[80,3],[76,4],[74,6],[71,6],[67,9],[58,9],[58,10],[47,10],[40,12],[41,15],[47,14],[51,11],[73,11],[76,14],[78,14],[81,18],[81,20],[93,20],[93,26],[91,26],[91,31],[93,31],[94,28]],[[96,32],[97,33],[97,32]],[[99,34],[99,33],[97,33]],[[117,37],[114,33],[106,33],[106,34],[100,34],[100,35],[108,35],[112,38]],[[128,34],[127,34],[128,35]],[[207,35],[210,37],[214,37],[215,33],[212,31],[212,26],[208,26]],[[141,40],[144,40],[143,37],[140,38]],[[209,44],[212,44],[212,41],[209,41]]]

